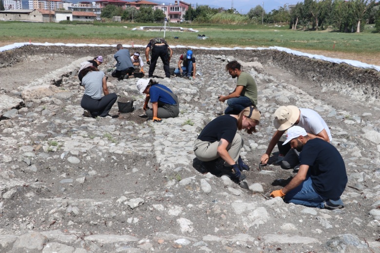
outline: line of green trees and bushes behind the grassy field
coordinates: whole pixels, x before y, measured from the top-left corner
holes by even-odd
[[[121,16],[122,20],[135,22],[163,22],[165,14],[150,6],[122,9],[107,5],[102,9],[101,18]],[[223,23],[223,24],[288,24],[290,29],[325,30],[331,28],[338,32],[361,32],[365,24],[374,24],[380,32],[380,2],[375,0],[304,0],[292,8],[288,5],[268,13],[261,5],[251,8],[242,15],[236,9],[211,8],[208,5],[196,5],[182,17],[187,22]]]

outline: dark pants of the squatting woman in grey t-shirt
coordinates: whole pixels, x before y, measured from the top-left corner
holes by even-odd
[[[94,99],[88,95],[83,95],[80,106],[89,110],[93,116],[105,117],[116,102],[117,95],[110,93],[101,99]]]

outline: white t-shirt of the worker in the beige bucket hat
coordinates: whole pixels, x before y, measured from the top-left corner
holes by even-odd
[[[330,129],[327,127],[326,122],[324,122],[323,118],[318,114],[318,112],[308,108],[300,108],[300,111],[300,123],[298,123],[297,126],[304,127],[306,133],[312,133],[315,135],[319,134],[323,131],[323,129],[325,129],[328,135],[328,139],[330,139],[330,142],[332,141]]]

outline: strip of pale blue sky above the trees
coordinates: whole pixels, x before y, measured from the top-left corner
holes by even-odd
[[[187,3],[191,3],[192,6],[198,5],[209,5],[211,8],[223,7],[225,9],[231,8],[232,0],[183,0]],[[233,8],[235,8],[241,14],[247,14],[247,12],[256,7],[257,5],[263,6],[266,13],[270,12],[273,9],[279,9],[283,7],[284,4],[297,4],[303,0],[233,0]]]

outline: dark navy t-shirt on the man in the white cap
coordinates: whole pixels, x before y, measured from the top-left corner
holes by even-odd
[[[346,167],[339,151],[320,138],[307,141],[300,153],[300,164],[309,165],[314,190],[329,199],[341,197],[347,184]]]

